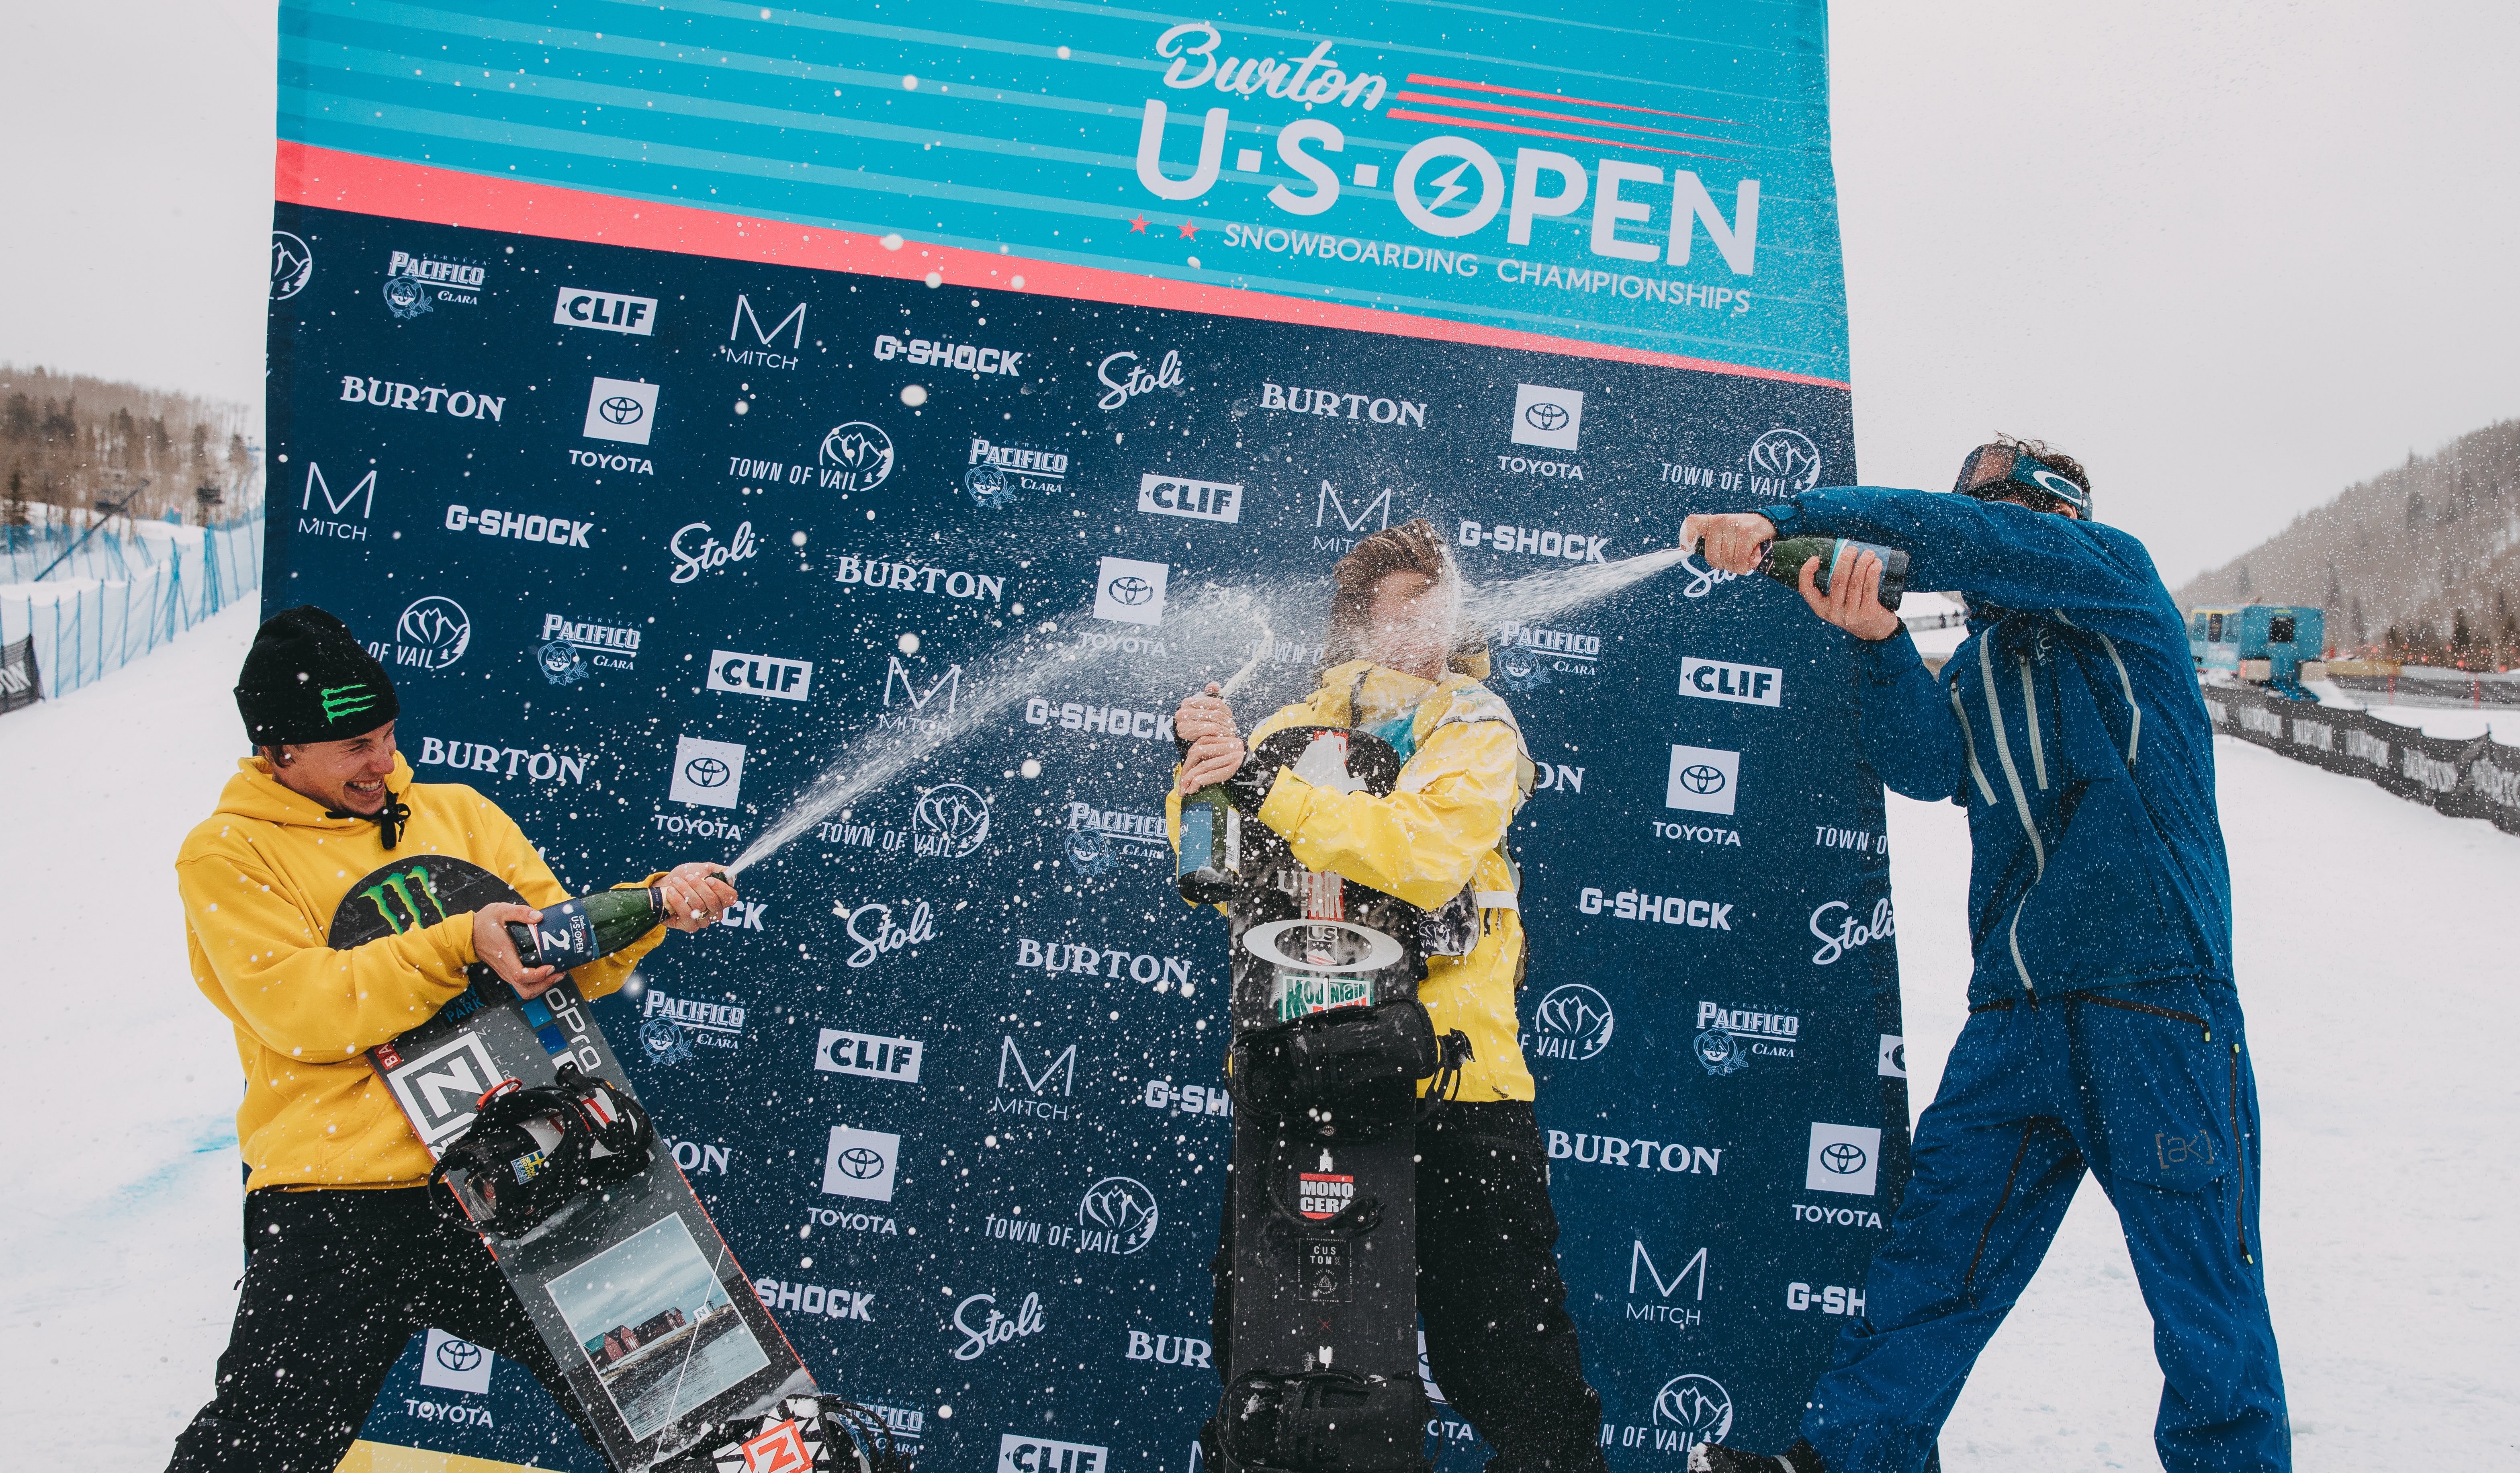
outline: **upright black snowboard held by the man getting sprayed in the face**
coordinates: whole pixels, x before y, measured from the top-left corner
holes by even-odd
[[[1389,742],[1338,726],[1275,731],[1255,759],[1376,797],[1401,772]],[[1220,1259],[1232,1286],[1212,1450],[1227,1470],[1424,1468],[1414,1082],[1383,1077],[1366,1090],[1378,1110],[1358,1112],[1356,1092],[1270,1080],[1318,1080],[1336,1039],[1414,1009],[1429,928],[1457,931],[1462,916],[1308,870],[1265,825],[1245,825],[1242,842],[1227,900],[1235,1148]],[[1474,936],[1469,911],[1467,938],[1436,948],[1467,951]]]

